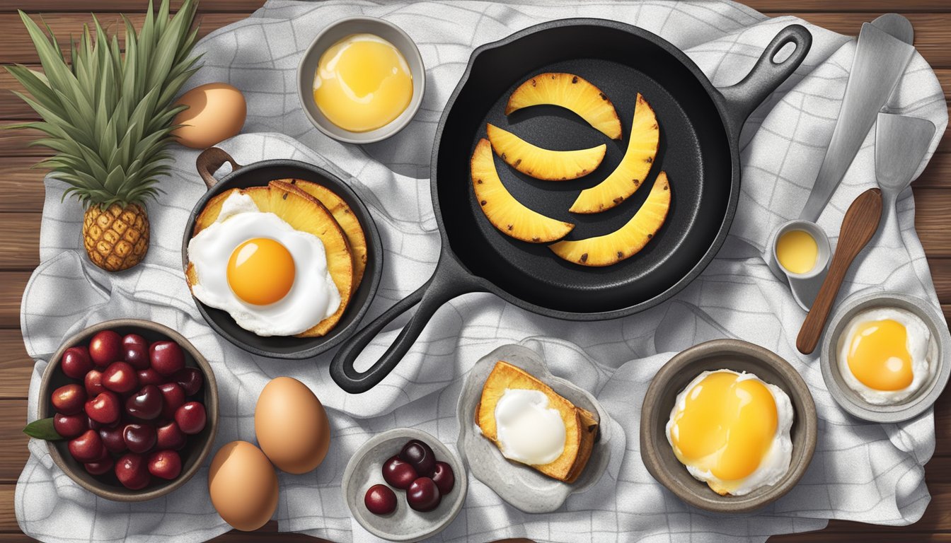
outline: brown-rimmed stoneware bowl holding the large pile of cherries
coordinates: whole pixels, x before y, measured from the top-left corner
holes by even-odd
[[[43,373],[43,380],[40,382],[40,418],[52,417],[55,412],[49,399],[52,391],[70,382],[76,382],[60,369],[63,353],[69,347],[88,344],[92,336],[103,330],[115,330],[120,335],[138,334],[149,342],[168,339],[178,343],[184,350],[185,366],[197,367],[202,371],[204,390],[199,393],[204,395],[204,409],[208,421],[201,433],[188,436],[184,449],[179,452],[182,455],[182,474],[170,481],[160,481],[153,477],[152,483],[142,490],[129,490],[122,486],[111,471],[106,475],[90,475],[83,464],[69,455],[68,441],[47,441],[49,456],[52,456],[53,462],[69,475],[69,478],[94,495],[115,501],[146,501],[166,495],[195,475],[205,456],[211,451],[215,434],[218,432],[218,387],[215,375],[202,354],[178,332],[150,320],[120,319],[93,324],[67,339],[49,359],[49,365]]]

